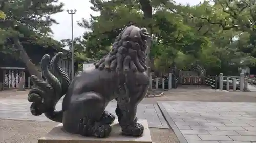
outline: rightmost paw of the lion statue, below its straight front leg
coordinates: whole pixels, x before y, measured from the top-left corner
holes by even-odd
[[[132,126],[122,128],[122,133],[127,136],[141,136],[144,132],[144,127],[140,123],[135,123]]]

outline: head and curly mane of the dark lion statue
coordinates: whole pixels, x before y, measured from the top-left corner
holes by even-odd
[[[125,28],[112,45],[111,51],[95,65],[99,70],[144,72],[146,66],[147,39],[151,38],[146,28]]]

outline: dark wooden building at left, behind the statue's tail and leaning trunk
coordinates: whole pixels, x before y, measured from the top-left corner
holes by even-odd
[[[37,65],[40,68],[40,61],[42,56],[49,54],[51,57],[54,56],[57,52],[63,52],[65,54],[64,58],[59,62],[60,67],[71,77],[72,74],[72,60],[70,51],[63,48],[54,48],[54,47],[42,47],[38,45],[24,46],[29,58],[32,63]],[[13,89],[21,88],[19,83],[24,82],[25,88],[30,87],[32,83],[28,81],[31,76],[26,69],[25,63],[22,62],[19,58],[11,56],[8,54],[3,54],[0,52],[0,89]],[[78,63],[74,63],[74,67],[78,67]],[[75,72],[76,72],[75,68]],[[23,77],[24,79],[23,80]],[[29,85],[30,84],[30,85]]]

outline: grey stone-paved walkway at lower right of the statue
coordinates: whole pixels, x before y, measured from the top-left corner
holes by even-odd
[[[158,101],[180,143],[256,142],[256,103]]]

